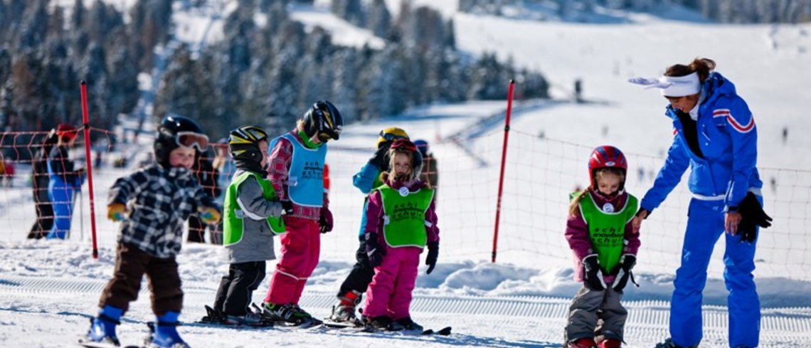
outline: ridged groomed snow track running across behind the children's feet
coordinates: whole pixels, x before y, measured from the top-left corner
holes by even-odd
[[[25,298],[36,294],[62,294],[71,296],[91,296],[101,294],[106,281],[93,279],[63,279],[55,277],[2,277],[0,276],[0,296],[5,299]],[[148,301],[148,286],[141,287],[139,301]],[[184,286],[183,316],[196,318],[204,316],[203,305],[211,302],[213,289]],[[262,291],[259,291],[262,292]],[[264,296],[256,294],[260,302]],[[326,316],[335,302],[332,293],[305,291],[302,307],[313,314]],[[666,301],[627,301],[629,310],[626,325],[626,339],[631,341],[656,342],[667,337],[667,317],[669,303]],[[514,326],[521,318],[547,318],[560,320],[560,332],[569,308],[569,299],[539,296],[482,297],[482,296],[418,296],[411,309],[414,313],[434,316],[487,316],[493,325]],[[89,310],[89,309],[88,309]],[[188,320],[188,319],[187,319]],[[727,309],[719,306],[705,306],[703,311],[705,341],[723,342],[727,335]],[[530,320],[531,321],[531,320]],[[764,308],[761,321],[762,347],[786,347],[784,342],[811,342],[811,308]],[[526,328],[528,332],[531,327]],[[474,333],[466,335],[475,336]],[[551,338],[554,340],[554,338]],[[791,345],[789,345],[791,346]],[[703,345],[702,345],[703,347]]]

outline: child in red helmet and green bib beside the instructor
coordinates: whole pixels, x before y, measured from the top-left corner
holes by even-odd
[[[582,281],[569,307],[565,342],[569,348],[619,348],[628,311],[623,289],[637,261],[639,234],[631,220],[637,198],[625,191],[628,162],[613,146],[594,148],[589,157],[590,185],[572,194],[566,240]]]

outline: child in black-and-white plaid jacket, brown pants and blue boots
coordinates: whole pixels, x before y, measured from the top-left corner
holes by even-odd
[[[188,347],[178,335],[183,302],[178,263],[183,225],[192,213],[208,223],[220,220],[217,204],[191,175],[195,154],[208,147],[208,137],[189,118],[169,116],[157,128],[157,164],[118,178],[109,191],[107,217],[122,221],[113,278],[99,300],[85,342],[118,346],[115,326],[138,297],[144,273],[152,290],[153,347]]]

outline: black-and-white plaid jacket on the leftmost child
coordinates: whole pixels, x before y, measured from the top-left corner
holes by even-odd
[[[129,217],[118,230],[118,243],[127,243],[158,258],[178,255],[183,226],[199,207],[218,210],[191,171],[165,170],[151,165],[118,178],[109,191],[109,204],[127,204]]]

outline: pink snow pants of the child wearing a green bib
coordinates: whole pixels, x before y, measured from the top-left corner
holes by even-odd
[[[380,266],[375,267],[367,289],[363,316],[388,316],[400,320],[411,316],[411,291],[417,282],[421,247],[389,247]]]

